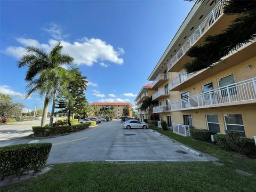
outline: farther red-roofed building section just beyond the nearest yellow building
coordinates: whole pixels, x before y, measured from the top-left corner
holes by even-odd
[[[151,83],[147,83],[146,85],[143,85],[141,87],[140,92],[137,94],[137,97],[135,98],[134,102],[135,105],[137,105],[137,107],[135,108],[135,110],[137,110],[137,112],[135,113],[135,115],[140,118],[140,119],[149,119],[149,114],[148,111],[146,110],[141,110],[141,104],[143,102],[143,100],[150,98],[156,90],[154,90],[153,88],[153,84]]]

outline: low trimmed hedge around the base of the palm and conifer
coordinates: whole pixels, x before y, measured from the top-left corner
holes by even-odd
[[[96,123],[96,122],[95,122]],[[82,123],[78,125],[67,125],[67,126],[57,126],[57,127],[41,127],[41,126],[33,126],[33,132],[35,137],[49,137],[54,135],[60,135],[64,133],[76,132],[79,130],[84,130],[91,125],[91,122]]]

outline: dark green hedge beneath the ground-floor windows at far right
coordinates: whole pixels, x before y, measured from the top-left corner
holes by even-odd
[[[241,137],[241,134],[236,131],[226,131],[226,135],[216,134],[215,138],[218,144],[226,150],[232,150],[247,157],[256,158],[254,139]]]

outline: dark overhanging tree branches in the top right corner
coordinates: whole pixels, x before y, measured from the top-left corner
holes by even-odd
[[[204,1],[197,0],[197,3]],[[194,59],[185,63],[184,68],[187,73],[212,67],[214,63],[222,61],[221,58],[232,51],[236,45],[256,39],[256,1],[227,1],[223,13],[236,14],[238,17],[222,33],[207,36],[204,44],[190,47],[187,55]]]

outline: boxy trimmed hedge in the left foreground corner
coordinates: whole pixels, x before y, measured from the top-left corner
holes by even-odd
[[[52,143],[31,143],[0,147],[0,177],[38,172],[45,165]]]

